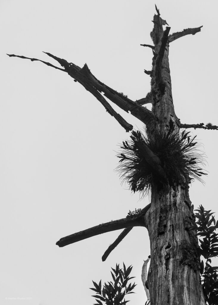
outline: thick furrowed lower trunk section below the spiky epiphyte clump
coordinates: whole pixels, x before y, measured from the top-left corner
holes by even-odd
[[[185,188],[153,190],[151,208],[145,214],[151,247],[151,305],[205,305],[198,242],[193,231],[187,230],[189,218],[193,219],[193,212]]]

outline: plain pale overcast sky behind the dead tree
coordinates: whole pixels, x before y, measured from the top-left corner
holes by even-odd
[[[173,101],[182,123],[217,117],[217,4],[202,0],[1,0],[0,200],[1,304],[92,304],[92,279],[110,281],[110,267],[133,265],[136,294],[145,304],[145,228],[134,228],[108,259],[101,257],[120,231],[59,248],[59,238],[143,208],[114,171],[118,143],[129,134],[68,74],[6,53],[58,65],[41,51],[78,66],[136,100],[150,91],[155,3],[170,33],[203,25],[170,45]],[[112,105],[135,128],[139,120]],[[197,208],[216,212],[218,131],[190,130],[208,156],[205,186],[190,189]],[[215,263],[215,265],[217,262]],[[31,298],[6,300],[5,298]]]

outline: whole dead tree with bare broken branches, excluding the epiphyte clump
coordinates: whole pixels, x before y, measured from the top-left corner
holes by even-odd
[[[145,70],[145,73],[151,77],[151,91],[146,97],[137,101],[132,101],[127,96],[99,81],[91,73],[87,64],[80,68],[74,63],[68,63],[65,59],[46,53],[62,66],[60,68],[39,59],[8,55],[30,59],[31,61],[39,60],[48,66],[68,73],[75,82],[80,83],[91,92],[127,132],[131,131],[133,126],[124,120],[119,113],[116,113],[105,97],[127,113],[131,112],[131,115],[141,120],[151,138],[155,137],[155,131],[157,130],[164,132],[168,128],[169,131],[170,124],[171,129],[174,128],[174,132],[178,134],[180,128],[193,127],[217,130],[218,126],[212,124],[180,123],[173,106],[168,60],[169,45],[171,43],[173,45],[173,41],[182,36],[200,32],[201,27],[188,28],[181,32],[169,34],[170,27],[163,29],[163,26],[168,24],[166,20],[160,17],[157,8],[156,11],[157,14],[154,15],[153,19],[154,27],[151,32],[154,45],[142,45],[151,48],[153,52],[152,70]],[[151,111],[143,107],[147,103],[152,104]],[[151,203],[136,215],[74,233],[61,238],[56,244],[59,247],[64,247],[91,236],[124,229],[116,241],[106,250],[102,257],[102,260],[105,260],[134,226],[146,227],[151,248],[151,263],[148,271],[151,305],[204,305],[205,299],[199,272],[200,260],[197,253],[198,241],[194,231],[188,230],[191,225],[189,220],[194,219],[193,206],[191,206],[188,194],[190,177],[185,173],[183,174],[184,179],[169,177],[158,154],[153,152],[146,143],[138,139],[135,141],[135,147],[141,153],[142,159],[149,164],[150,171],[156,177],[156,182],[153,181],[150,184]],[[199,176],[201,175],[198,170],[196,173]]]

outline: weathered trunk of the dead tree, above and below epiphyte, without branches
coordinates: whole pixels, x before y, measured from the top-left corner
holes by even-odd
[[[151,38],[154,42],[151,71],[152,113],[158,118],[152,128],[166,128],[170,119],[179,130],[180,120],[174,112],[169,68],[170,28],[163,31],[166,20],[154,15]],[[194,218],[188,195],[188,183],[169,184],[162,190],[152,188],[151,207],[145,214],[151,247],[148,288],[151,305],[205,305],[201,278],[198,240],[189,231],[189,219]]]

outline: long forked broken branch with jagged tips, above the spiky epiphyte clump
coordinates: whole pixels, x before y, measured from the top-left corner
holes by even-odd
[[[110,99],[113,103],[115,103],[121,109],[125,110],[126,112],[130,111],[134,117],[137,117],[144,124],[148,124],[152,120],[156,120],[156,117],[150,110],[146,109],[145,107],[142,107],[140,104],[128,99],[127,96],[123,95],[122,93],[117,92],[116,90],[113,90],[109,86],[107,86],[104,83],[102,83],[101,81],[99,81],[88,69],[87,64],[85,64],[83,66],[83,68],[80,68],[79,66],[76,66],[73,63],[68,63],[65,59],[61,59],[57,56],[52,55],[51,53],[48,53],[48,52],[44,52],[44,53],[47,54],[48,56],[52,57],[53,59],[57,60],[59,62],[59,64],[64,67],[64,69],[55,67],[52,64],[46,63],[39,59],[28,58],[25,56],[17,56],[14,54],[8,54],[8,55],[30,59],[31,61],[39,60],[48,66],[52,66],[55,69],[59,69],[64,72],[67,72],[71,77],[74,78],[75,81],[82,84],[84,86],[84,88],[86,88],[86,90],[91,92],[102,103],[102,105],[104,105],[105,109],[113,117],[116,118],[116,120],[121,124],[121,126],[126,129],[126,131],[130,131],[133,128],[133,126],[128,124],[120,116],[120,114],[116,113],[116,111],[113,110],[113,108],[109,105],[109,103],[101,95],[101,92],[104,93],[106,98]]]

